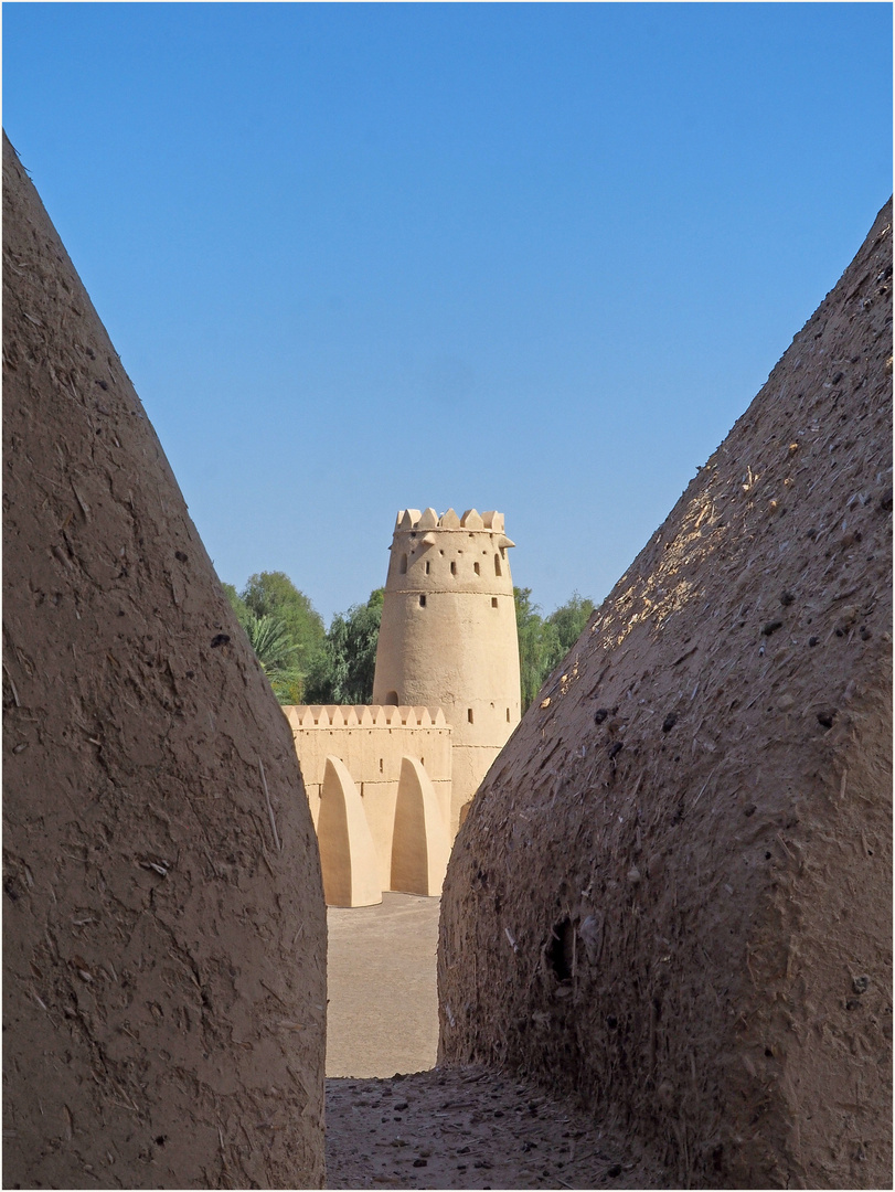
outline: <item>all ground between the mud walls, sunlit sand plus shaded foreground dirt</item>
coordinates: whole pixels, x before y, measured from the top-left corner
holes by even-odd
[[[327,1186],[661,1187],[619,1137],[501,1072],[435,1068],[439,899],[330,908]],[[409,1074],[408,1074],[409,1073]]]

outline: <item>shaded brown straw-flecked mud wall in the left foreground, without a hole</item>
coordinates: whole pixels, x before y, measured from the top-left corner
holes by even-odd
[[[5,1186],[319,1187],[292,734],[8,143],[4,354]]]

